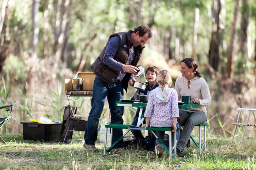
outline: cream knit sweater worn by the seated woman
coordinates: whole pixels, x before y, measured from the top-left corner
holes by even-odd
[[[181,100],[181,96],[191,96],[191,102],[193,99],[198,98],[200,101],[199,108],[192,108],[191,110],[185,110],[188,112],[203,111],[206,114],[206,106],[211,103],[211,95],[209,87],[206,81],[202,77],[195,77],[190,80],[190,88],[188,88],[188,80],[185,77],[178,77],[175,83],[175,90],[178,94],[178,100]]]

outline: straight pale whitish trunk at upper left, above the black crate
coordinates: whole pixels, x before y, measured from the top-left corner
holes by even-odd
[[[32,3],[32,36],[30,41],[30,54],[33,58],[37,58],[37,43],[38,43],[38,10],[39,10],[39,1],[33,0]]]

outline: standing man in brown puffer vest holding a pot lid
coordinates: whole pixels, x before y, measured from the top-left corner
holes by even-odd
[[[93,100],[87,120],[83,146],[89,151],[98,151],[95,141],[98,135],[99,117],[105,100],[108,99],[111,120],[110,123],[123,124],[124,107],[116,106],[116,102],[124,99],[124,90],[128,83],[135,80],[131,74],[136,74],[144,44],[152,37],[150,28],[143,25],[128,32],[114,33],[101,51],[99,57],[91,65],[95,76],[93,84]],[[124,90],[123,90],[124,89]],[[123,135],[122,129],[113,129],[113,142]],[[122,148],[123,140],[115,148]]]

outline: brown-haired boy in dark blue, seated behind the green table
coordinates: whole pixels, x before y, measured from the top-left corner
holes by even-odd
[[[143,94],[143,95],[149,95],[150,91],[155,89],[156,87],[158,87],[158,83],[157,83],[157,74],[158,74],[158,67],[156,66],[149,66],[145,73],[146,73],[146,79],[147,79],[147,86],[145,90],[137,90],[134,94],[134,96],[131,98],[131,100],[136,100],[136,96],[139,94]],[[139,118],[139,108],[136,111],[136,115],[135,118],[132,121],[132,125],[136,125],[138,122],[138,118]],[[144,113],[145,108],[143,108],[143,112]],[[155,137],[153,134],[149,134],[149,141],[146,142],[146,139],[143,137],[142,133],[140,130],[131,130],[133,136],[135,137],[135,139],[137,139],[137,141],[139,142],[139,145],[142,149],[148,149],[150,151],[154,150],[155,147]]]

